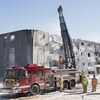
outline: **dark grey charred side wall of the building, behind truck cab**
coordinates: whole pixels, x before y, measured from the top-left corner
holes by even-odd
[[[31,30],[0,35],[0,76],[12,66],[25,66],[33,61]]]

